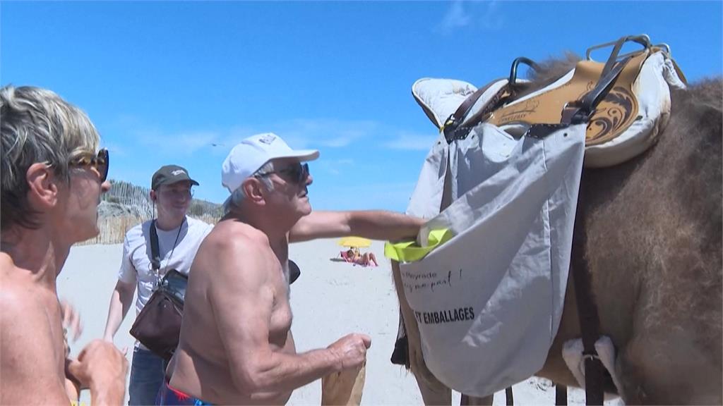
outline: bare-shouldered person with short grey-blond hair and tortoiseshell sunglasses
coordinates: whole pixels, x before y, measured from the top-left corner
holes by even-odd
[[[0,404],[120,405],[127,361],[95,340],[68,358],[56,278],[70,246],[98,234],[108,152],[85,113],[37,87],[0,90]]]

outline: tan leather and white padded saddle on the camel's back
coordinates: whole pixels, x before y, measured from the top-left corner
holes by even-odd
[[[643,48],[621,55],[628,42]],[[613,49],[605,63],[591,59],[591,51],[608,46]],[[460,80],[424,78],[414,83],[412,94],[448,142],[483,123],[519,138],[532,126],[559,126],[578,114],[588,122],[585,165],[602,168],[630,160],[656,142],[669,118],[669,88],[686,83],[669,47],[652,45],[647,35],[592,46],[586,59],[534,92],[528,91],[529,81],[517,79],[519,64],[539,68],[521,57],[513,61],[508,79],[480,89]]]

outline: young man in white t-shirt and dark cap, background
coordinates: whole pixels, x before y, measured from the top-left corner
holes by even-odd
[[[198,182],[189,178],[188,171],[178,165],[158,169],[151,179],[150,199],[158,207],[155,228],[158,233],[158,254],[161,257],[161,277],[169,269],[188,274],[196,251],[212,225],[187,217],[191,204],[191,187]],[[105,340],[112,342],[121,322],[128,313],[133,294],[138,289],[136,315],[153,294],[157,275],[150,263],[150,226],[152,220],[128,230],[123,241],[123,257],[116,288],[111,293]],[[131,364],[129,405],[153,405],[155,395],[163,384],[165,363],[140,342],[136,342]]]

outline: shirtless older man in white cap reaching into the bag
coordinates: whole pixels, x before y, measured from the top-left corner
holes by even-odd
[[[236,145],[223,163],[228,214],[203,241],[186,291],[179,347],[162,404],[283,404],[330,373],[359,368],[371,340],[348,334],[296,353],[288,301],[288,243],[360,235],[415,236],[422,220],[392,212],[314,212],[305,161],[275,134]]]

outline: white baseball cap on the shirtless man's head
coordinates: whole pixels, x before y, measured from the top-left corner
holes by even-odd
[[[315,160],[318,150],[292,150],[276,134],[256,134],[241,141],[223,160],[221,183],[233,192],[241,183],[259,170],[265,163],[278,158],[299,158],[299,161]]]

